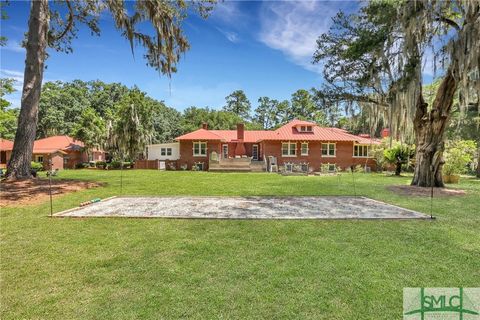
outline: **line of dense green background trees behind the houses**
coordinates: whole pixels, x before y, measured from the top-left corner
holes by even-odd
[[[18,109],[4,99],[14,92],[13,82],[2,79],[0,92],[0,135],[13,139]],[[427,95],[428,96],[428,95]],[[137,87],[100,80],[47,82],[39,103],[37,139],[52,135],[70,135],[85,142],[87,150],[104,148],[116,158],[135,158],[148,143],[172,141],[207,123],[210,129],[234,129],[243,122],[247,129],[275,129],[292,119],[313,121],[321,126],[335,126],[353,133],[374,132],[377,136],[383,122],[372,128],[368,109],[341,109],[322,100],[315,89],[300,89],[290,100],[260,97],[257,107],[242,90],[225,97],[221,109],[191,106],[183,113],[167,107]],[[466,122],[452,121],[449,135],[472,139]],[[470,124],[470,123],[468,123]],[[473,126],[473,125],[472,125]]]

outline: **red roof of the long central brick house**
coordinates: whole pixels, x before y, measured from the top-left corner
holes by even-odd
[[[311,125],[313,132],[299,132],[298,125]],[[176,138],[181,140],[220,140],[222,142],[231,142],[237,140],[237,130],[205,130],[198,129],[196,131],[184,134]],[[303,120],[293,120],[277,130],[245,130],[243,142],[254,143],[263,140],[301,140],[301,141],[354,141],[357,143],[376,144],[375,139],[362,138],[353,134],[349,134],[339,128],[319,127],[313,122]]]

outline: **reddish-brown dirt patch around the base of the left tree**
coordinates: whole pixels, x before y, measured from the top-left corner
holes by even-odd
[[[58,197],[70,192],[101,186],[101,183],[78,180],[52,180],[52,195]],[[49,198],[47,179],[32,179],[0,184],[0,207],[18,207],[38,204]]]

